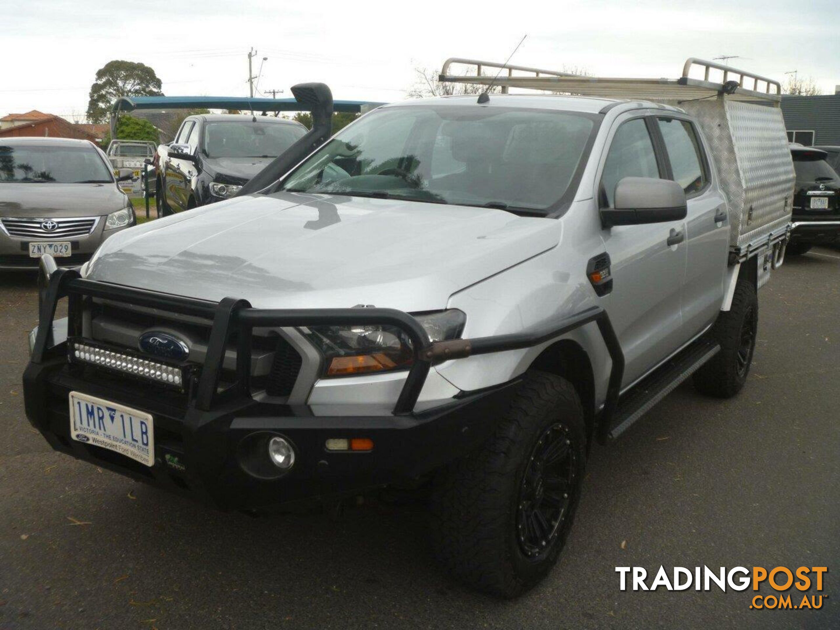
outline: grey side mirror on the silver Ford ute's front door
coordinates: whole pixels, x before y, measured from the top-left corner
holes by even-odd
[[[615,207],[601,208],[601,223],[613,225],[664,223],[685,218],[685,192],[676,181],[624,177],[616,185]]]

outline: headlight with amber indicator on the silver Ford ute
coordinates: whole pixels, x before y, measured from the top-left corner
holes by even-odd
[[[429,339],[457,339],[466,315],[457,308],[415,315]],[[407,370],[414,360],[411,339],[394,326],[311,326],[302,332],[323,354],[324,376]]]

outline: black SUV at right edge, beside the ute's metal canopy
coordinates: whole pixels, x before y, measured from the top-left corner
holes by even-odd
[[[805,254],[815,244],[828,244],[840,235],[840,176],[827,162],[826,151],[790,145],[796,186],[793,198],[794,228],[787,253]]]

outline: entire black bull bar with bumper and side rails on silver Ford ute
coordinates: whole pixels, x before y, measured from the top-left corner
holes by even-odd
[[[54,264],[44,265],[45,272]],[[24,402],[29,422],[54,449],[139,480],[185,493],[215,507],[270,507],[316,496],[352,493],[399,480],[417,479],[470,452],[494,430],[517,386],[501,386],[461,394],[427,411],[415,410],[432,365],[471,354],[530,348],[557,339],[587,323],[597,323],[612,359],[606,401],[598,436],[615,409],[624,359],[609,317],[591,307],[543,330],[475,339],[431,342],[411,315],[388,308],[260,309],[242,299],[205,302],[190,297],[144,291],[79,277],[78,271],[56,269],[41,291],[40,318],[29,365],[24,372]],[[151,307],[160,312],[212,319],[207,352],[189,368],[188,382],[176,390],[160,382],[127,379],[124,373],[97,364],[68,362],[67,342],[55,324],[55,308],[67,300],[66,334],[81,336],[84,301],[107,299]],[[305,405],[266,402],[251,394],[251,335],[254,328],[296,328],[315,325],[391,325],[412,341],[413,362],[390,415],[381,410],[354,416],[317,415]],[[235,370],[223,376],[228,342],[235,339]],[[153,417],[155,462],[148,467],[107,449],[70,438],[71,391],[148,412]],[[351,402],[351,401],[348,401]],[[355,407],[354,407],[355,408]],[[255,473],[255,434],[285,437],[296,449],[295,465],[283,476],[267,479]],[[331,452],[333,438],[367,438],[370,452]]]

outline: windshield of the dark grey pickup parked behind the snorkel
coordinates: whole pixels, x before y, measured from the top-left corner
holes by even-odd
[[[209,158],[277,157],[307,130],[297,124],[251,119],[207,123],[202,151]]]

